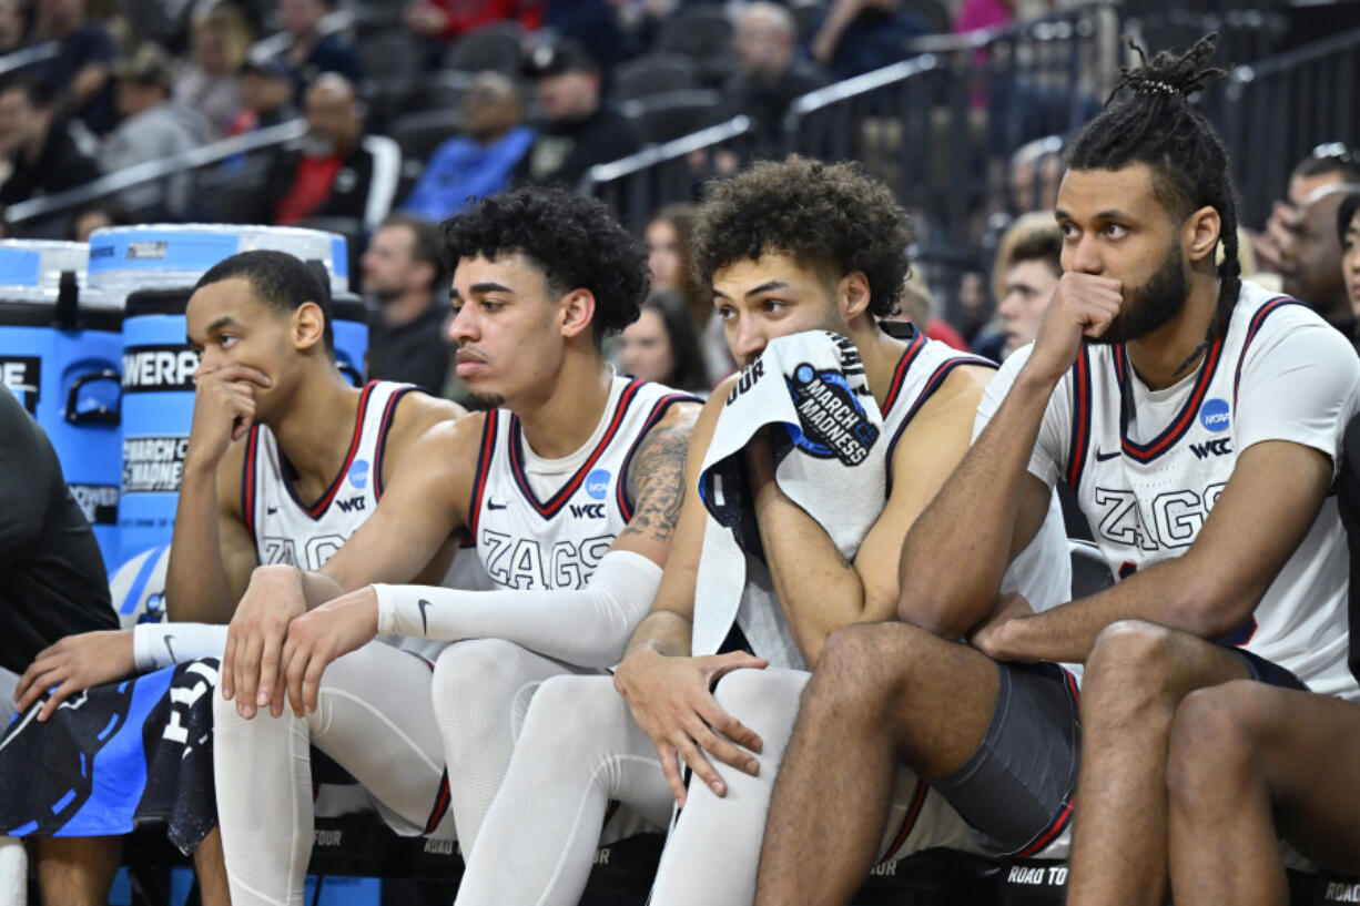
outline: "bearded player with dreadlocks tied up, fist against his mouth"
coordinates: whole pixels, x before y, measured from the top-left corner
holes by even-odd
[[[1213,49],[1208,35],[1126,71],[1074,141],[1065,273],[907,535],[903,623],[823,649],[758,903],[847,902],[902,763],[997,854],[1059,856],[1076,804],[1068,902],[1159,905],[1180,701],[1248,679],[1357,695],[1329,488],[1360,360],[1314,312],[1238,278],[1228,161],[1189,101]],[[1119,581],[1035,614],[1000,578],[1058,480]],[[1064,662],[1085,665],[1080,705]]]

